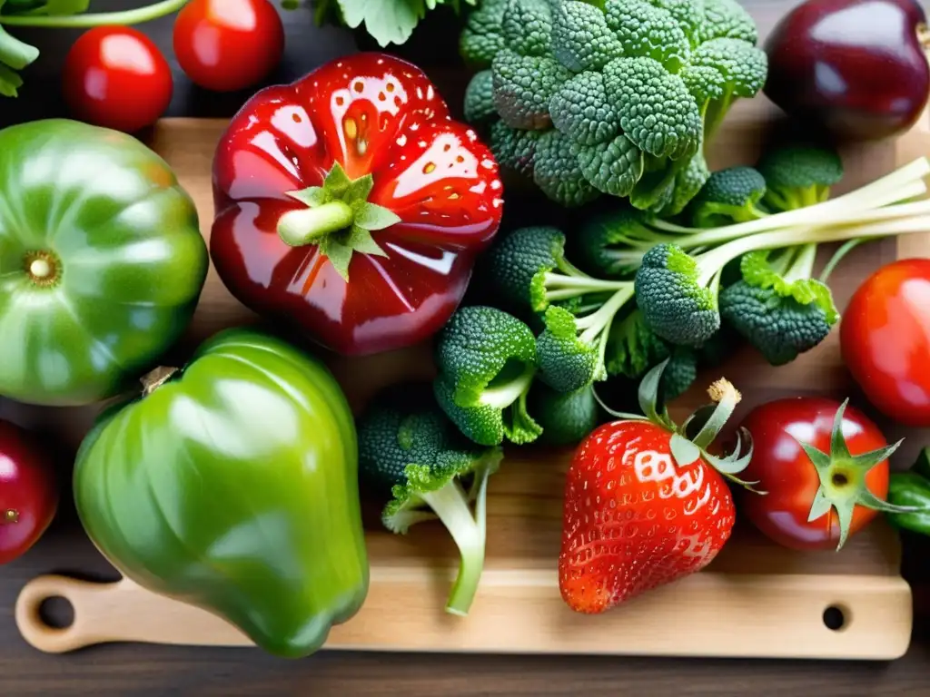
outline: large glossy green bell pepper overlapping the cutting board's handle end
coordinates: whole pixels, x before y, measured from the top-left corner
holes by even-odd
[[[127,578],[218,614],[263,650],[316,651],[368,592],[358,445],[339,383],[245,328],[153,375],[78,451],[86,533]]]

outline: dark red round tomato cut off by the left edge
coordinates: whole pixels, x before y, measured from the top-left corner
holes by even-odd
[[[22,428],[0,421],[0,564],[17,559],[46,532],[59,493],[48,455]]]

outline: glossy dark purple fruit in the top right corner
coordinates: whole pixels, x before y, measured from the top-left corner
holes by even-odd
[[[841,138],[896,136],[930,94],[926,22],[915,0],[807,0],[765,41],[764,94]]]

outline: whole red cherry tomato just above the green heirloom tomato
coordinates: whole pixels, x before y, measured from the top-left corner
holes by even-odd
[[[64,99],[88,124],[134,133],[171,103],[174,81],[158,46],[129,27],[96,27],[81,35],[62,71]]]

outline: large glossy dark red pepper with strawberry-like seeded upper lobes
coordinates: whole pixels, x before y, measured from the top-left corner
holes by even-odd
[[[491,151],[424,72],[380,53],[259,91],[220,138],[213,189],[229,291],[344,355],[436,333],[503,205]]]

